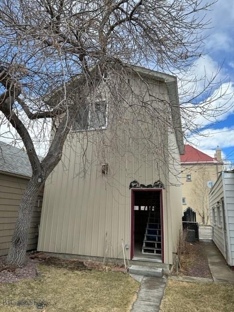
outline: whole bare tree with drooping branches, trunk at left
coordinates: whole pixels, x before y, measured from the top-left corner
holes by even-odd
[[[213,2],[0,0],[1,125],[7,121],[15,130],[14,139],[22,140],[32,166],[32,178],[20,203],[8,263],[25,263],[32,207],[44,181],[61,159],[74,122],[78,120],[78,125],[88,130],[83,116],[90,111],[91,104],[97,112],[95,103],[101,84],[108,87],[108,102],[115,109],[108,117],[112,137],[105,138],[106,151],[105,155],[100,151],[101,157],[105,158],[110,148],[118,150],[117,124],[130,137],[134,125],[138,124],[145,147],[160,166],[163,156],[157,158],[158,149],[163,155],[163,146],[156,144],[153,137],[163,137],[163,130],[173,127],[169,118],[173,104],[155,97],[146,101],[143,95],[137,95],[129,84],[133,69],[128,64],[175,71],[183,77],[202,53],[201,32],[209,25],[204,15]],[[112,77],[109,85],[106,73]],[[207,96],[212,94],[214,86],[212,79],[205,83]],[[129,90],[136,101],[134,106],[129,105],[128,97],[124,96]],[[193,99],[198,96],[187,88],[188,103],[189,95]],[[209,103],[214,99],[209,98]],[[159,100],[164,106],[156,110],[155,103]],[[213,117],[220,114],[211,111],[209,103],[200,104],[198,114]],[[187,118],[184,124],[190,130],[194,112],[193,102],[183,106],[183,118]],[[154,133],[146,131],[149,124]],[[46,139],[45,129],[51,126],[54,132],[49,139],[49,149],[40,161],[36,148]],[[103,132],[97,133],[103,140]],[[125,147],[131,152],[131,144]]]

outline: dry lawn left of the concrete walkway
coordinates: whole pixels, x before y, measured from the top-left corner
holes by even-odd
[[[0,285],[0,312],[128,312],[139,289],[126,273],[38,269],[37,279]]]

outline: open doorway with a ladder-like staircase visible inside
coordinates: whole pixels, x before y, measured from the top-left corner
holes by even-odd
[[[131,258],[163,261],[162,190],[132,189]]]

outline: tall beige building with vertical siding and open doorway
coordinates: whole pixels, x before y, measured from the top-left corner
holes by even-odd
[[[176,78],[134,66],[128,81],[132,94],[125,90],[123,95],[119,87],[115,102],[122,111],[102,90],[95,103],[98,130],[90,108],[67,138],[62,159],[45,183],[38,251],[122,259],[124,244],[136,262],[173,263],[182,216]],[[131,115],[129,110],[139,98],[151,101],[162,111],[159,116],[167,114],[172,127],[159,120],[156,129],[150,113],[149,122],[139,124],[141,111]]]

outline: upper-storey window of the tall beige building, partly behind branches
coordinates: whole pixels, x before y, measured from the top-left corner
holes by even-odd
[[[107,127],[106,101],[96,101],[81,106],[74,119],[73,131],[105,129]]]

